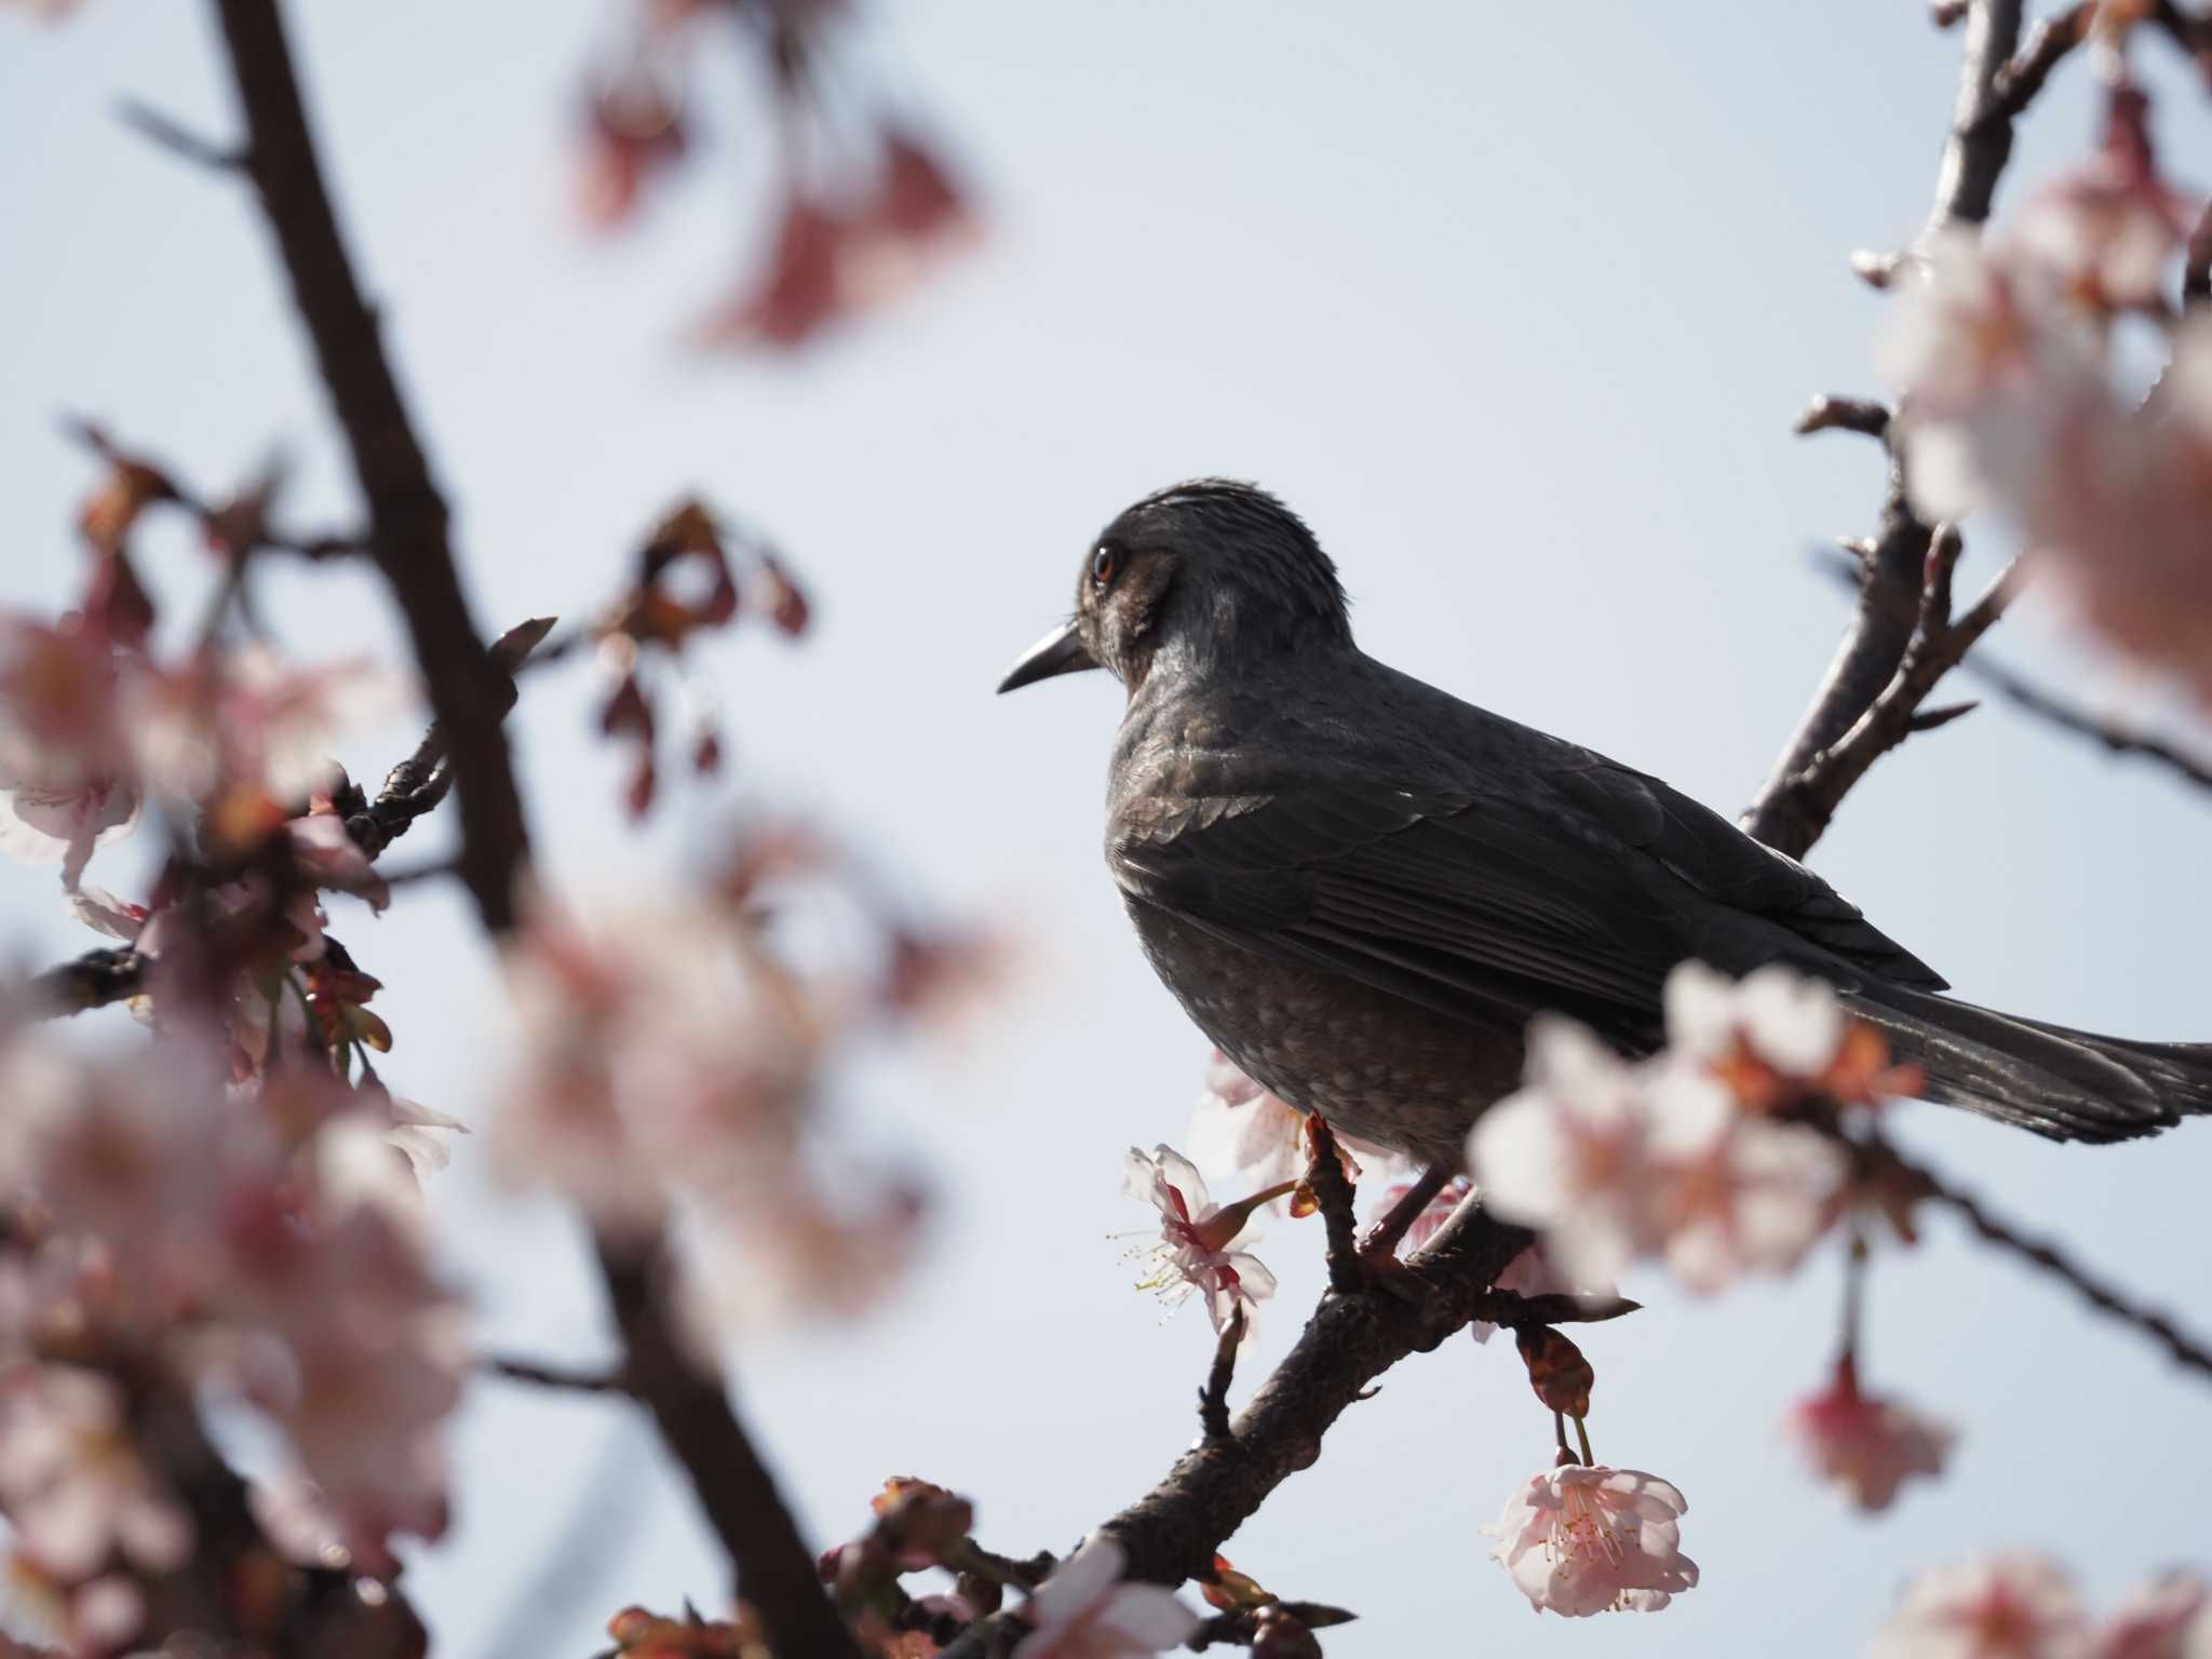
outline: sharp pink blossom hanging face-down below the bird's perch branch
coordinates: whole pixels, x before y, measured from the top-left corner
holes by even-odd
[[[1688,1500],[1641,1469],[1564,1464],[1531,1475],[1498,1526],[1493,1551],[1537,1613],[1657,1613],[1697,1586],[1681,1553]]]

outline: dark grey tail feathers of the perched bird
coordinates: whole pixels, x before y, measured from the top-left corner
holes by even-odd
[[[1927,1099],[2055,1141],[2130,1141],[2212,1115],[2212,1042],[2099,1037],[1898,984],[1847,1002],[1927,1073]]]

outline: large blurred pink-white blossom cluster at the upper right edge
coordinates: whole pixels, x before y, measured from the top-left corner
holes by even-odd
[[[2117,49],[2106,64],[2088,159],[1902,263],[1893,436],[1922,518],[2000,511],[2093,626],[2212,699],[2212,316],[2166,299],[2203,204],[2161,177],[2150,100]],[[2130,316],[2170,336],[2148,398]]]

